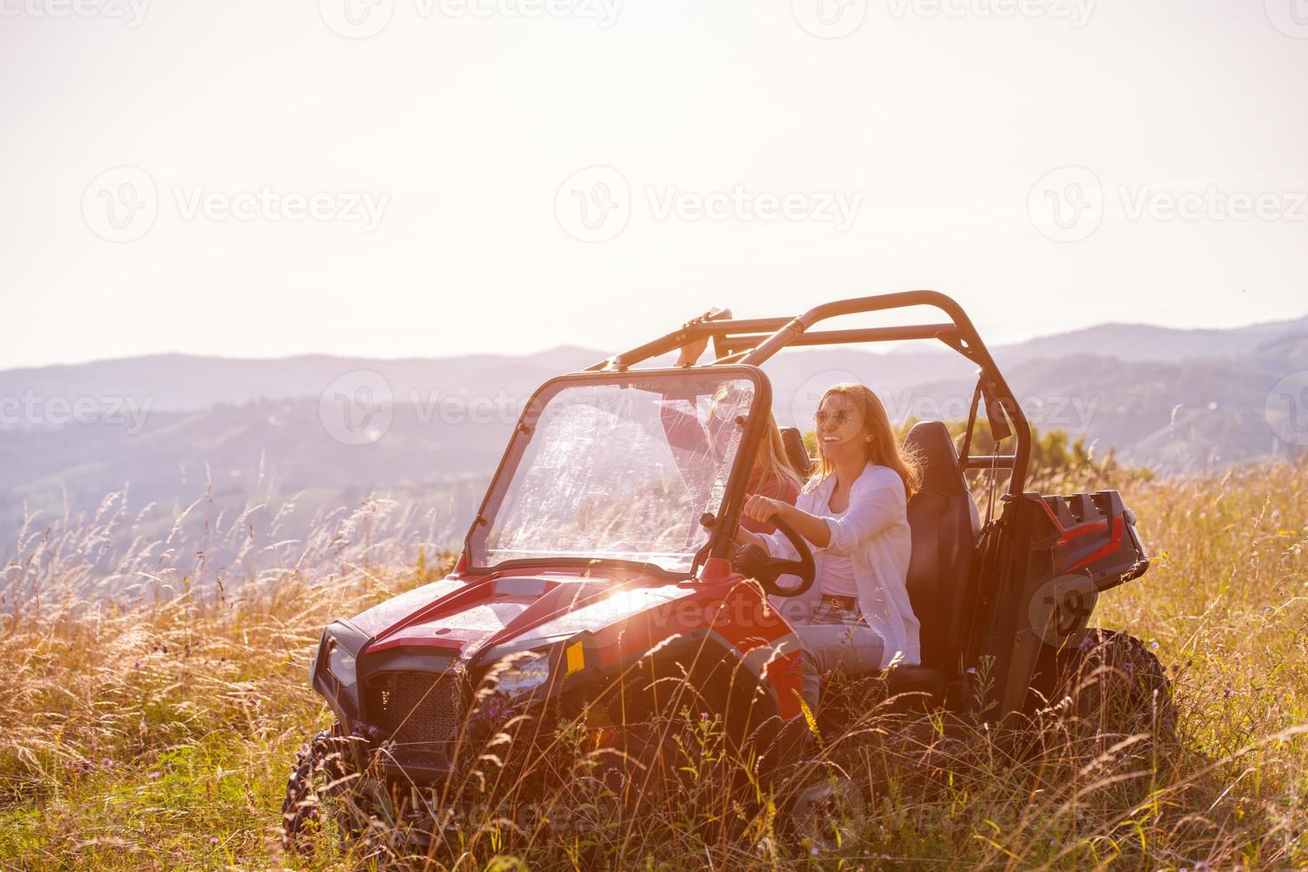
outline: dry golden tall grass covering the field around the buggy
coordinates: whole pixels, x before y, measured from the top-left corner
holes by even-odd
[[[943,739],[870,715],[825,737],[820,760],[870,784],[871,804],[806,839],[766,805],[732,804],[732,761],[696,722],[683,762],[697,769],[638,821],[473,821],[433,867],[1308,865],[1305,478],[1299,461],[1125,489],[1155,562],[1101,599],[1096,622],[1156,645],[1179,746],[1086,757],[1050,714],[1045,752],[1014,760],[984,728]],[[273,519],[211,519],[205,536],[256,543],[224,567],[179,533],[105,553],[143,523],[122,495],[24,533],[0,578],[0,864],[340,868],[403,854],[328,831],[286,856],[279,812],[297,748],[330,723],[306,676],[320,628],[438,561],[412,532],[421,519],[391,503],[323,518],[310,543],[277,543]],[[576,812],[574,792],[556,796]]]

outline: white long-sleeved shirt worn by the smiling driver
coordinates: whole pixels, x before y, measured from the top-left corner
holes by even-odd
[[[849,489],[849,507],[838,514],[831,511],[831,492],[836,476],[808,482],[795,507],[810,515],[825,516],[831,531],[827,548],[810,543],[814,557],[845,557],[853,563],[858,588],[858,608],[867,626],[876,630],[886,643],[882,668],[899,656],[905,665],[922,662],[918,641],[918,620],[908,597],[908,563],[913,554],[913,536],[908,527],[908,498],[904,481],[889,467],[867,464]],[[768,553],[783,560],[798,560],[794,545],[783,533],[763,537]],[[814,587],[824,592],[827,562],[818,560]]]

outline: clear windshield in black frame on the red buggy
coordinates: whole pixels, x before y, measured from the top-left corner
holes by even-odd
[[[473,524],[471,563],[599,557],[688,573],[753,396],[753,382],[730,371],[547,386]]]

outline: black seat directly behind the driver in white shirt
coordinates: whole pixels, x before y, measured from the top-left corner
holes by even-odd
[[[922,665],[891,672],[891,690],[937,693],[959,672],[967,643],[964,590],[976,549],[976,503],[959,468],[948,428],[922,421],[909,430],[904,447],[922,472],[922,486],[908,503],[913,557],[908,596],[921,622]]]

